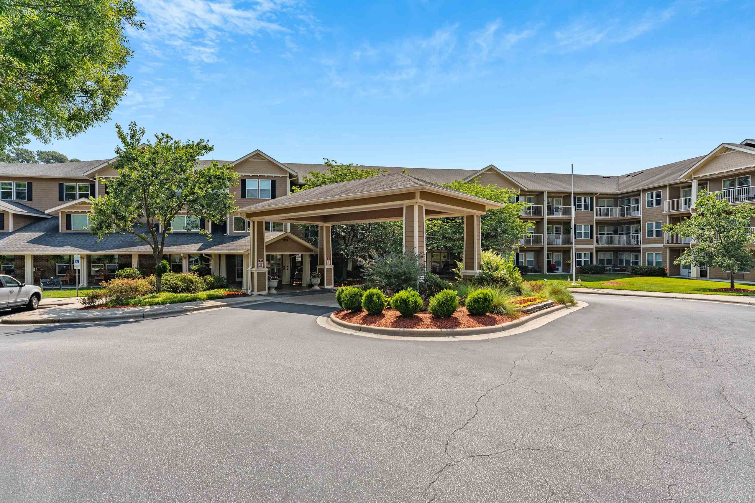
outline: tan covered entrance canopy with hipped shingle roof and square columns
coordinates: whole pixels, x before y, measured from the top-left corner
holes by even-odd
[[[503,204],[418,179],[406,173],[319,186],[271,199],[236,212],[251,222],[248,292],[267,293],[264,222],[314,224],[319,228],[317,268],[322,286],[333,287],[331,225],[402,220],[405,252],[425,260],[425,220],[464,217],[464,270],[474,276],[480,269],[482,244],[480,216]]]

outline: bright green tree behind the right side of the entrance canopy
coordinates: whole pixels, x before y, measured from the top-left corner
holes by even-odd
[[[519,218],[527,203],[513,202],[516,191],[495,185],[482,186],[477,180],[457,180],[443,185],[488,201],[507,203],[498,210],[489,210],[480,219],[483,250],[514,250],[519,247],[522,235],[532,229],[532,222]],[[430,219],[425,228],[427,250],[449,250],[456,254],[464,250],[464,219],[461,217]]]

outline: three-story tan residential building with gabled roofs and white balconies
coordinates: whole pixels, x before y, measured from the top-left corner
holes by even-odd
[[[27,283],[54,276],[72,283],[72,255],[79,254],[82,285],[97,284],[123,267],[154,271],[151,250],[134,236],[111,235],[97,241],[88,232],[89,198],[103,193],[97,177],[117,176],[112,168],[115,161],[0,164],[0,268]],[[232,191],[239,207],[287,195],[308,172],[327,168],[276,161],[259,150],[220,162],[232,164],[242,176]],[[522,218],[534,223],[532,233],[522,238],[516,259],[543,272],[569,271],[574,243],[577,267],[658,265],[672,276],[726,278],[715,269],[673,265],[689,242],[664,235],[661,227],[689,216],[702,189],[732,204],[755,201],[755,140],[722,143],[707,155],[621,176],[575,175],[574,198],[569,174],[508,171],[492,164],[480,170],[381,168],[436,183],[477,179],[515,190],[530,203]],[[198,228],[210,231],[211,241]],[[250,240],[245,219],[229,215],[224,222],[193,222],[181,215],[172,229],[165,247],[171,270],[208,265],[214,274],[248,287]],[[302,229],[267,222],[265,230],[268,270],[283,284],[308,284],[318,250],[304,241]],[[452,267],[455,258],[445,250],[427,252],[428,265],[441,273]],[[739,279],[755,281],[755,275],[741,271]]]

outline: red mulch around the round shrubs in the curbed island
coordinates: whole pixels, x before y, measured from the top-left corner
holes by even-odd
[[[381,314],[368,314],[367,311],[356,313],[337,311],[335,316],[339,320],[348,321],[353,324],[390,328],[475,328],[492,327],[493,325],[513,321],[513,318],[501,316],[500,314],[472,316],[467,313],[467,309],[465,308],[457,309],[453,316],[447,318],[436,318],[428,312],[414,314],[411,317],[402,317],[399,311],[394,311],[393,309],[386,309]]]

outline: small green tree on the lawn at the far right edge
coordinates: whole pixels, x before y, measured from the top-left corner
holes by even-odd
[[[692,238],[692,244],[673,263],[718,267],[729,272],[729,285],[734,288],[737,271],[753,268],[753,234],[750,221],[755,207],[750,204],[732,206],[726,199],[702,191],[692,216],[673,225],[664,225],[664,232]]]

